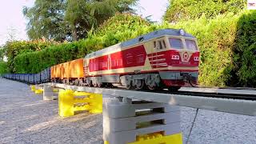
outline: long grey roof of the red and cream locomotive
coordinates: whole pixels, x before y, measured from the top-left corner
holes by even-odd
[[[93,56],[96,56],[98,54],[102,54],[102,53],[106,53],[107,51],[112,51],[112,50],[116,50],[118,48],[122,48],[122,47],[127,47],[127,46],[132,46],[132,45],[135,45],[139,42],[143,42],[143,41],[148,41],[152,38],[160,38],[164,35],[170,35],[170,36],[182,36],[182,37],[186,37],[186,38],[195,38],[193,35],[191,34],[182,34],[181,35],[181,32],[180,32],[181,29],[162,29],[162,30],[155,30],[153,32],[150,32],[148,34],[144,34],[144,35],[141,35],[137,38],[132,38],[130,40],[127,40],[126,42],[121,42],[121,43],[118,43],[114,46],[109,46],[109,47],[106,47],[102,50],[98,50],[98,51],[95,51],[91,54],[87,54],[86,55],[86,58],[90,58],[90,57],[93,57]]]

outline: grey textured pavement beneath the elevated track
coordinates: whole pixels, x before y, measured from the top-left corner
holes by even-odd
[[[0,78],[0,143],[102,143],[102,114],[58,116],[24,83]],[[256,118],[181,107],[183,143],[256,143]],[[192,127],[192,124],[193,128]]]

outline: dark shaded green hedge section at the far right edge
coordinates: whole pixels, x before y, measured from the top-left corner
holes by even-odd
[[[242,86],[256,86],[256,11],[242,14],[238,20],[234,45],[234,79]]]

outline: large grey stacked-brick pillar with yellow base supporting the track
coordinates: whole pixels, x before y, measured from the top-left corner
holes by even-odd
[[[182,144],[180,122],[178,106],[104,98],[103,139],[108,144]]]

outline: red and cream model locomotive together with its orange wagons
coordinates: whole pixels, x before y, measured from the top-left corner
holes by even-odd
[[[186,83],[198,83],[199,55],[197,40],[191,34],[156,30],[85,58],[51,66],[47,80],[78,86],[178,90]]]

